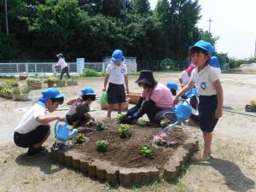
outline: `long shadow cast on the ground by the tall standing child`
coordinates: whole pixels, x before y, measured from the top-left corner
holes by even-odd
[[[201,163],[200,165],[212,166],[214,169],[218,170],[225,179],[225,184],[232,190],[236,192],[246,192],[249,189],[254,189],[255,183],[249,177],[246,177],[239,166],[232,163],[229,160],[221,160],[214,158],[208,160],[209,163]]]

